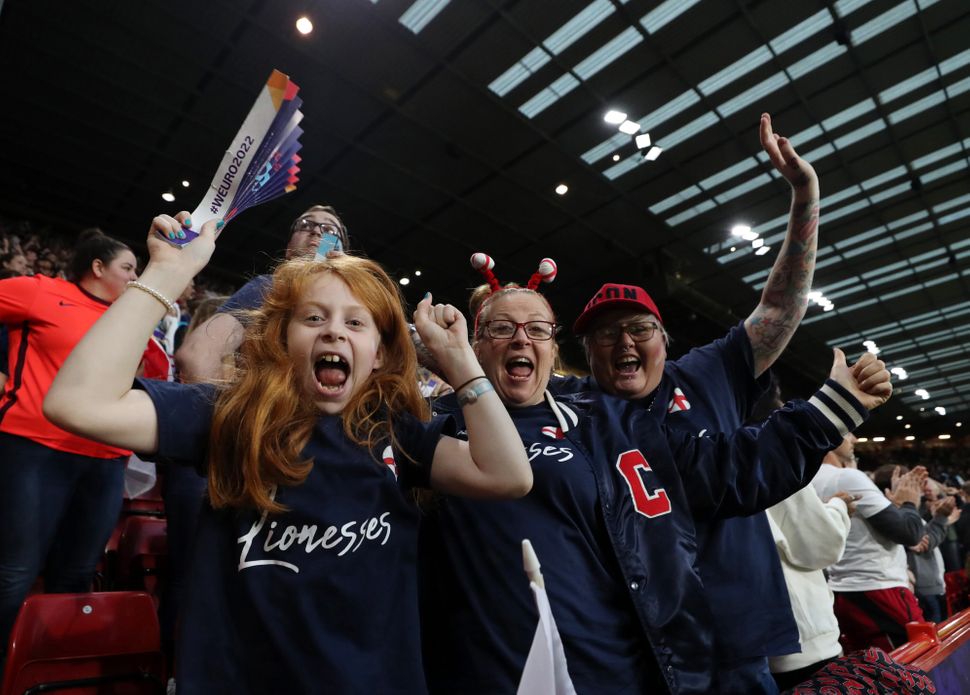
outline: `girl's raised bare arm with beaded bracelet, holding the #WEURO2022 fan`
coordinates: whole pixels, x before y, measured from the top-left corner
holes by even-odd
[[[178,220],[188,218],[180,213]],[[148,234],[150,260],[138,279],[162,297],[178,297],[212,255],[215,222],[179,250],[158,239],[155,230],[177,234],[177,219],[160,215]],[[64,362],[44,399],[44,415],[83,437],[150,453],[158,447],[155,406],[132,389],[138,362],[152,330],[165,315],[151,293],[129,287],[98,319]]]

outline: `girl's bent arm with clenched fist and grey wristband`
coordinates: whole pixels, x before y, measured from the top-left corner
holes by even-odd
[[[474,380],[470,385],[480,391],[477,400],[462,404],[468,441],[442,437],[438,444],[432,487],[464,497],[525,495],[532,489],[532,466],[468,343],[465,317],[450,304],[432,305],[428,295],[414,312],[414,325],[448,383],[459,387]]]

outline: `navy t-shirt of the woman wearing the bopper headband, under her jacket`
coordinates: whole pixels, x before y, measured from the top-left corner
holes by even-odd
[[[518,682],[538,620],[522,572],[525,536],[552,587],[577,692],[647,692],[661,682],[659,671],[613,554],[590,461],[561,438],[545,402],[509,414],[532,463],[532,491],[517,500],[443,498],[422,529],[429,687],[504,693]]]

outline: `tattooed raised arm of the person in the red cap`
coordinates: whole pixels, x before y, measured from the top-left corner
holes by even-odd
[[[761,116],[761,146],[775,169],[792,187],[791,216],[778,258],[761,293],[761,302],[745,319],[754,352],[754,374],[764,373],[788,345],[808,308],[808,292],[818,250],[818,176],[798,156],[787,138],[771,131],[771,117]]]

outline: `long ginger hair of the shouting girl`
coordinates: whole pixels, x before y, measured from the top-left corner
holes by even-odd
[[[418,390],[417,358],[397,283],[377,263],[354,256],[282,263],[273,273],[263,305],[245,317],[236,378],[216,399],[209,442],[209,499],[217,509],[285,511],[272,499],[271,490],[277,485],[298,485],[310,473],[313,462],[300,454],[320,412],[298,385],[287,354],[286,330],[304,292],[322,273],[343,280],[367,307],[384,353],[384,366],[341,413],[348,438],[372,451],[385,441],[398,448],[395,416],[429,417]]]

